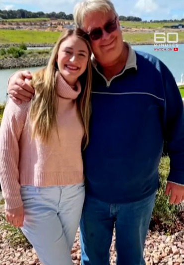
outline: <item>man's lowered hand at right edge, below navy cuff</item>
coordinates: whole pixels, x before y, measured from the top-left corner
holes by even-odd
[[[170,194],[169,202],[171,204],[178,204],[184,200],[184,185],[180,185],[177,183],[167,182],[166,186],[166,195]]]

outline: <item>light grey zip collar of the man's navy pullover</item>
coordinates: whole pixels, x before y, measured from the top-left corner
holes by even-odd
[[[123,42],[124,42],[124,45],[126,45],[126,46],[128,47],[128,58],[127,58],[127,61],[126,61],[125,67],[124,67],[123,71],[122,71],[120,74],[118,74],[118,75],[112,77],[109,81],[108,81],[107,78],[106,78],[102,73],[100,73],[100,71],[97,69],[97,62],[96,62],[96,60],[95,60],[94,55],[92,54],[92,56],[91,56],[91,61],[92,61],[92,65],[93,65],[93,67],[95,68],[95,70],[97,71],[97,73],[98,73],[99,75],[101,75],[101,76],[103,77],[103,79],[106,81],[107,88],[110,87],[111,82],[112,82],[115,78],[122,76],[123,73],[124,73],[127,69],[135,68],[135,70],[137,70],[136,53],[135,53],[135,51],[131,48],[131,46],[129,45],[129,43],[127,43],[127,42],[125,42],[125,41],[123,41]]]

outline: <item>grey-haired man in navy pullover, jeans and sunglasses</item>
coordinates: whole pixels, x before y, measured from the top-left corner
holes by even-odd
[[[166,194],[184,199],[184,107],[168,68],[122,40],[110,0],[85,0],[75,24],[91,39],[90,141],[83,154],[86,199],[80,222],[81,264],[108,265],[116,229],[117,265],[145,265],[143,248],[159,187],[163,140],[171,159]],[[13,100],[30,100],[29,73],[9,81]],[[15,99],[16,97],[16,99]]]

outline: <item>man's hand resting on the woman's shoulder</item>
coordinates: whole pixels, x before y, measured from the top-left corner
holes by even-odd
[[[21,100],[28,102],[33,97],[34,89],[25,82],[31,78],[29,71],[18,71],[10,77],[7,92],[15,103],[20,104]]]

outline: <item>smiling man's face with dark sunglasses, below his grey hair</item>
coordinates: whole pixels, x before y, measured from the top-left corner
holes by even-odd
[[[113,11],[100,11],[86,15],[84,31],[90,35],[91,47],[102,66],[110,66],[122,52],[122,31]]]

